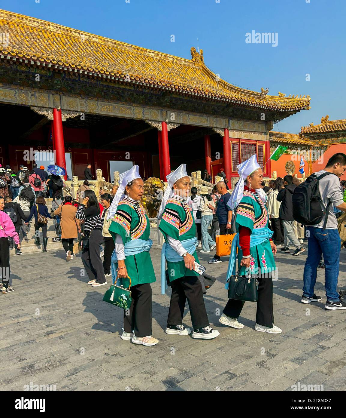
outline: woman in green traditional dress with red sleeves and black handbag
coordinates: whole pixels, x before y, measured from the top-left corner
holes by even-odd
[[[273,231],[268,228],[268,212],[264,204],[267,196],[260,188],[263,171],[256,155],[237,168],[240,180],[227,202],[231,209],[235,209],[237,235],[233,238],[226,278],[235,274],[238,248],[238,274],[255,276],[259,283],[255,330],[280,334],[282,330],[274,325],[273,314],[273,278],[276,277],[273,255],[276,246],[271,239]],[[244,325],[237,321],[243,305],[244,301],[229,299],[219,319],[221,324],[243,328]]]

